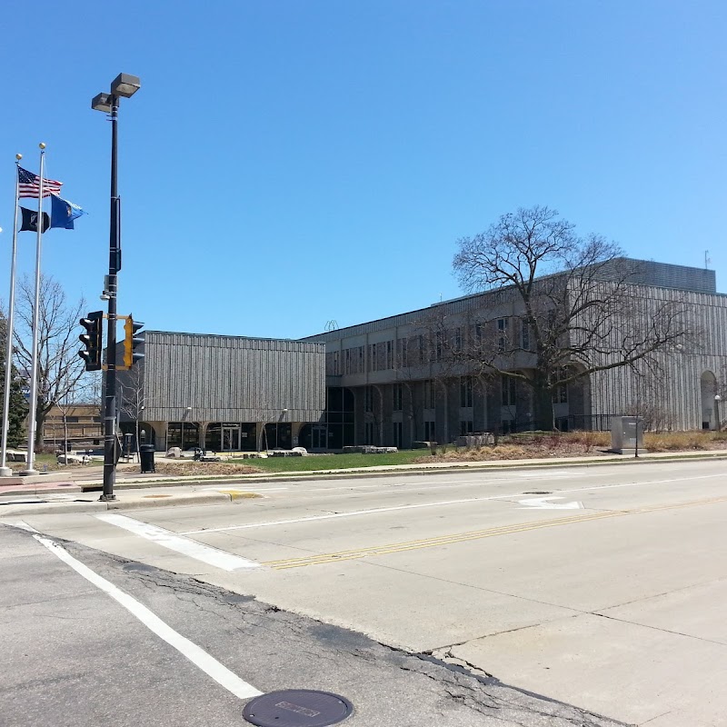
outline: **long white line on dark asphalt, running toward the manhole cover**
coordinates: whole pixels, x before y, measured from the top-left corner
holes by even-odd
[[[120,603],[126,611],[132,613],[140,622],[144,623],[149,631],[155,633],[160,639],[174,647],[183,656],[189,659],[194,666],[201,669],[207,676],[214,679],[215,682],[224,686],[228,692],[232,692],[239,699],[250,699],[257,697],[263,692],[255,689],[252,684],[248,684],[240,679],[237,674],[231,672],[224,664],[218,662],[214,656],[211,656],[196,643],[184,638],[181,633],[177,633],[171,626],[168,626],[154,612],[149,611],[144,604],[136,601],[135,598],[128,593],[124,593],[117,588],[114,583],[106,581],[98,573],[92,571],[88,566],[77,561],[73,555],[68,553],[58,543],[42,535],[33,536],[38,543],[42,543],[45,547],[58,556],[64,563],[70,565],[76,573],[82,575],[86,581],[93,583],[97,588],[111,596],[117,603]]]

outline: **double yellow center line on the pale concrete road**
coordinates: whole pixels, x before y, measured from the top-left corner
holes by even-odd
[[[424,538],[423,540],[412,540],[404,543],[390,543],[388,545],[373,545],[368,548],[356,548],[350,551],[338,553],[320,553],[308,555],[303,558],[287,558],[282,561],[267,561],[263,565],[273,568],[275,571],[284,571],[289,568],[303,568],[305,565],[323,565],[324,563],[338,563],[339,561],[353,561],[357,558],[367,558],[373,555],[388,555],[390,553],[403,553],[405,551],[422,550],[423,548],[436,548],[440,545],[451,545],[453,543],[466,543],[472,540],[483,540],[498,535],[513,535],[515,533],[527,533],[531,530],[543,530],[543,528],[560,527],[573,523],[589,523],[593,520],[604,520],[623,515],[634,515],[642,513],[657,513],[661,510],[677,510],[695,505],[727,502],[727,497],[714,497],[710,500],[694,500],[690,503],[676,503],[670,505],[655,505],[653,507],[635,508],[632,510],[611,510],[607,513],[592,513],[583,515],[571,515],[569,517],[544,520],[540,523],[519,523],[516,525],[503,525],[498,528],[487,530],[475,530],[470,533],[455,533],[453,535],[442,535],[437,538]]]

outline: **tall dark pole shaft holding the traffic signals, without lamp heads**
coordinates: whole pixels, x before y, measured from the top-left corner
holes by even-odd
[[[99,500],[115,500],[116,482],[116,278],[119,267],[119,196],[117,177],[118,96],[111,105],[111,227],[108,259],[108,329],[106,337],[106,386],[104,406],[104,492]]]

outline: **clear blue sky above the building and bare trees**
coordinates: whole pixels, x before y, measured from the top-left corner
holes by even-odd
[[[547,204],[727,281],[723,0],[6,4],[0,296],[16,152],[89,213],[43,270],[98,299],[120,72],[119,312],[294,338],[461,294],[455,241]],[[4,170],[4,171],[3,171]],[[35,235],[20,235],[33,274]]]

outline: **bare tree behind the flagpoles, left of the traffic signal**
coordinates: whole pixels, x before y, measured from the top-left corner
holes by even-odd
[[[33,307],[35,281],[27,276],[18,284],[15,325],[15,358],[26,377],[32,371]],[[51,276],[41,277],[38,314],[38,387],[35,401],[35,444],[43,443],[43,424],[53,405],[66,401],[85,374],[78,357],[79,319],[85,306],[81,298],[68,304],[65,292]],[[31,403],[32,405],[33,403]]]

